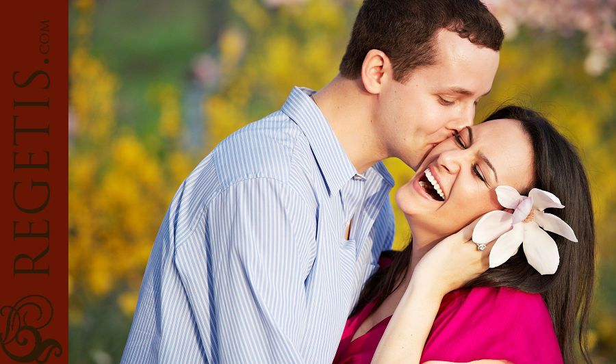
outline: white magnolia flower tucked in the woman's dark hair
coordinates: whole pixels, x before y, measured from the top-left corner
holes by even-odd
[[[519,245],[524,244],[528,263],[540,274],[554,274],[559,268],[559,250],[554,239],[544,230],[562,235],[572,242],[578,241],[566,222],[543,212],[550,207],[562,209],[561,200],[537,188],[530,190],[528,197],[520,196],[515,188],[509,186],[496,187],[496,196],[500,205],[513,209],[513,213],[500,210],[486,213],[473,231],[476,244],[487,244],[498,237],[490,252],[490,268],[507,261],[515,255]]]

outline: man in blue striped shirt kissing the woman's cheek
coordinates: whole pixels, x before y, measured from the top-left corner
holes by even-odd
[[[340,74],[221,142],[172,200],[123,363],[331,363],[394,236],[381,160],[472,125],[502,29],[479,0],[366,0]]]

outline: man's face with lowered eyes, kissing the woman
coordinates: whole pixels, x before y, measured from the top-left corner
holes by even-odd
[[[405,83],[385,80],[374,115],[385,154],[413,170],[434,146],[473,125],[475,105],[498,68],[498,52],[452,31],[441,29],[435,48],[433,66],[411,71]]]

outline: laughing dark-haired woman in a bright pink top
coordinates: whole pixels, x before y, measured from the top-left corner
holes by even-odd
[[[582,163],[531,110],[504,107],[486,121],[436,146],[419,169],[426,172],[396,193],[413,239],[366,283],[334,363],[575,363],[576,320],[591,363],[585,330],[595,236]],[[532,188],[551,192],[565,205],[546,211],[569,224],[578,242],[550,234],[560,257],[554,274],[537,272],[522,248],[470,281],[449,269],[451,252],[469,249],[487,268],[492,244],[476,252],[470,239],[480,216],[503,209],[500,185],[524,196]]]

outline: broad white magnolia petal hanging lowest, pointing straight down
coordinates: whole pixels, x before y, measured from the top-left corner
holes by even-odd
[[[559,248],[534,221],[524,224],[524,254],[526,260],[540,274],[554,274],[559,268]]]

